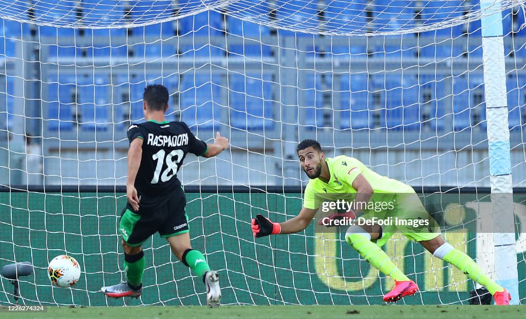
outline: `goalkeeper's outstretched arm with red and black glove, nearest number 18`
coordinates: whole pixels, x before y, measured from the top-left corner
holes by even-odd
[[[252,219],[252,232],[257,238],[267,235],[297,233],[307,228],[316,211],[316,209],[304,207],[296,217],[282,223],[271,222],[263,215],[257,215],[255,219]]]

